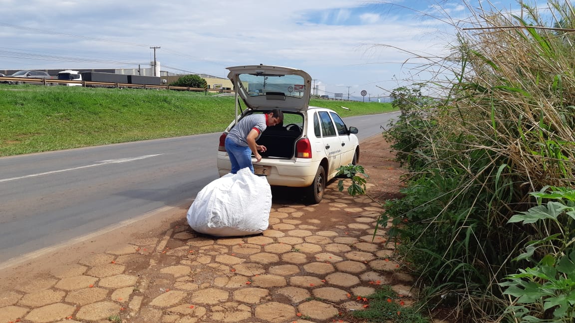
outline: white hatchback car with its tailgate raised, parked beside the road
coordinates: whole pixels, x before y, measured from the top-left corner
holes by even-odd
[[[358,129],[348,127],[333,110],[309,106],[312,78],[302,70],[264,65],[227,69],[236,92],[236,120],[220,136],[219,175],[231,171],[224,141],[236,122],[252,113],[280,109],[283,124],[267,127],[257,141],[267,151],[260,153],[259,163],[252,159],[255,174],[266,176],[272,186],[302,187],[309,202],[319,203],[337,168],[358,162]],[[237,97],[246,105],[239,115]]]

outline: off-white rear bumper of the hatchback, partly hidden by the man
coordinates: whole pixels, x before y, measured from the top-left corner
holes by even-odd
[[[259,163],[252,158],[254,168],[258,166],[270,167],[270,174],[266,176],[267,182],[273,186],[307,187],[313,183],[319,161],[308,159],[262,159]],[[218,151],[217,170],[224,176],[232,169],[227,153]]]

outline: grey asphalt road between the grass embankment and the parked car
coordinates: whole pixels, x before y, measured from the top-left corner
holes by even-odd
[[[344,118],[359,140],[398,113]],[[39,249],[193,201],[221,133],[0,158],[0,268]],[[361,149],[361,146],[360,146]]]

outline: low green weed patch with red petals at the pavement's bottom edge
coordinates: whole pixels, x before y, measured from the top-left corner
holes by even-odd
[[[358,297],[358,301],[365,302],[364,310],[353,313],[356,318],[363,318],[369,322],[395,323],[430,323],[431,320],[419,314],[421,310],[416,306],[405,306],[400,295],[389,286],[382,286],[374,294],[365,298]]]

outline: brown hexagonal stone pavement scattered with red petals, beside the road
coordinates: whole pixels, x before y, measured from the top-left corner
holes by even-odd
[[[371,184],[368,184],[371,185]],[[350,322],[358,296],[413,278],[374,227],[381,205],[327,187],[318,206],[273,204],[258,236],[215,238],[185,219],[163,238],[93,253],[0,292],[9,322]],[[185,217],[185,214],[183,214]]]

